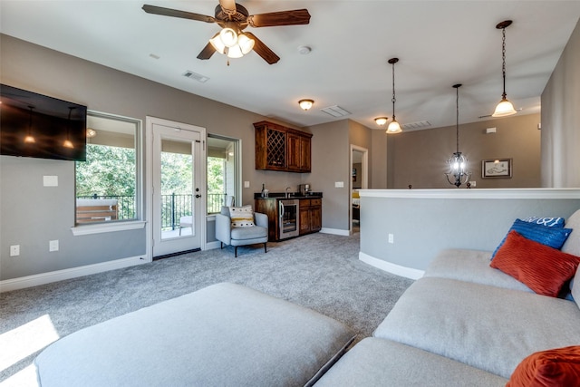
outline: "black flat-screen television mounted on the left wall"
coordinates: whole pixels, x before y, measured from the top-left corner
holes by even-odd
[[[86,106],[5,84],[0,102],[0,154],[86,160]]]

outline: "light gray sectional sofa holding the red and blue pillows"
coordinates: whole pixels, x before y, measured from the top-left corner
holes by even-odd
[[[580,256],[580,210],[565,227],[576,231],[561,250]],[[528,355],[580,345],[580,269],[562,299],[490,267],[491,255],[442,251],[317,386],[506,385]]]

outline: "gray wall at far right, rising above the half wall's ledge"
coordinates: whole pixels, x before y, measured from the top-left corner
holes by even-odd
[[[580,187],[580,21],[542,92],[542,187]]]

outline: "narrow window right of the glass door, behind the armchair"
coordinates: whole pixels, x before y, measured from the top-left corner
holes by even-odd
[[[231,199],[237,204],[239,140],[208,134],[208,214],[216,214]]]

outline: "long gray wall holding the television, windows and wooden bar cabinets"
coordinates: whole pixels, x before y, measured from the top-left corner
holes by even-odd
[[[143,124],[149,115],[241,139],[241,179],[250,182],[250,188],[242,192],[243,204],[254,203],[254,192],[260,191],[262,183],[272,192],[310,183],[313,189],[324,192],[323,227],[348,230],[348,199],[333,185],[334,181],[348,181],[347,121],[322,128],[320,135],[312,131],[313,173],[261,171],[255,169],[252,123],[271,119],[199,97],[195,82],[188,92],[180,91],[5,34],[0,34],[0,67],[2,83],[86,104],[92,111],[135,118]],[[333,131],[335,127],[341,129]],[[144,138],[144,143],[147,140]],[[73,162],[3,156],[0,163],[0,280],[145,254],[144,229],[72,236]],[[43,175],[58,176],[59,187],[43,188]],[[48,242],[56,238],[60,251],[49,254]],[[20,245],[21,254],[11,257],[9,247],[15,244]]]

